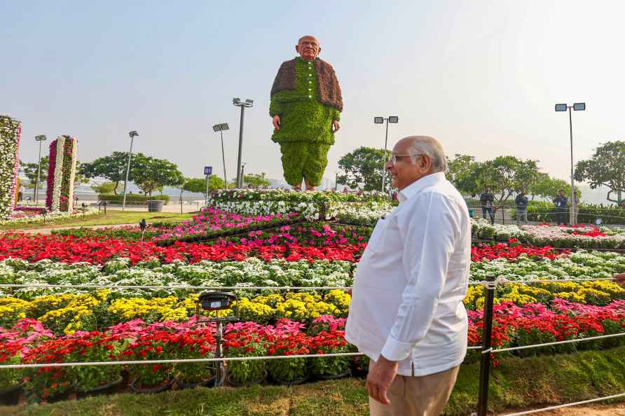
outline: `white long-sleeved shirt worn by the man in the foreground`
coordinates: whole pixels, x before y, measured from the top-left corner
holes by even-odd
[[[345,338],[400,375],[460,365],[467,353],[471,224],[467,204],[442,172],[398,195],[358,264]]]

